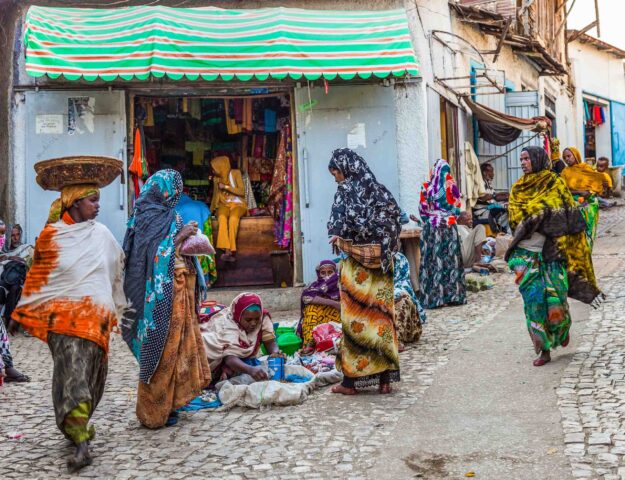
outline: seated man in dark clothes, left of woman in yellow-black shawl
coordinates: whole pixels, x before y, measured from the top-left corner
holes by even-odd
[[[508,209],[505,202],[510,196],[508,192],[495,192],[493,180],[495,169],[490,163],[480,165],[484,178],[484,195],[478,198],[473,207],[474,223],[488,225],[493,233],[508,233]]]

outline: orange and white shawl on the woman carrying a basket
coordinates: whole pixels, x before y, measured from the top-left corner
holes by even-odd
[[[41,232],[13,318],[44,342],[53,332],[108,352],[110,332],[128,307],[124,253],[101,223],[66,217]]]

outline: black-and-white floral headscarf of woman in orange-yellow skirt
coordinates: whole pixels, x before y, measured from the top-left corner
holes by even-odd
[[[399,205],[376,180],[367,162],[352,150],[335,150],[329,168],[339,170],[345,181],[339,184],[334,196],[328,235],[352,240],[355,245],[380,244],[382,270],[388,272],[399,245]]]

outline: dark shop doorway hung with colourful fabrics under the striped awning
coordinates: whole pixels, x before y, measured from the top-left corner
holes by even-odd
[[[202,262],[213,287],[292,286],[293,284],[293,139],[288,92],[254,96],[131,97],[133,138],[140,142],[149,173],[172,168],[197,211],[211,210],[201,225],[219,247],[222,228],[215,215],[220,191],[211,167],[226,157],[239,170],[247,208],[239,223],[236,261],[218,250]],[[134,145],[135,150],[138,145]],[[130,163],[130,161],[129,161]],[[232,176],[230,176],[232,177]],[[138,185],[138,179],[132,178]],[[223,185],[223,184],[222,184]],[[189,199],[186,199],[188,202]],[[212,262],[215,263],[212,263]]]

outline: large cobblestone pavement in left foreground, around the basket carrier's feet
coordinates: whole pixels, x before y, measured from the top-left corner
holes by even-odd
[[[602,216],[601,232],[611,228],[604,225],[622,221],[623,210]],[[115,336],[106,391],[93,417],[98,429],[92,442],[94,464],[80,476],[365,478],[367,469],[376,461],[376,453],[389,440],[405,410],[433,382],[437,369],[448,362],[464,338],[491,322],[517,295],[512,275],[497,275],[495,281],[495,289],[469,294],[465,306],[428,311],[422,339],[401,355],[402,382],[390,396],[371,393],[342,397],[325,388],[300,406],[185,413],[176,426],[156,431],[142,428],[136,420],[137,367],[121,338]],[[605,308],[610,305],[614,304],[608,303]],[[278,318],[284,319],[292,320],[293,314]],[[16,365],[32,377],[32,382],[10,384],[0,390],[2,477],[65,478],[65,460],[71,449],[54,423],[50,398],[52,360],[47,347],[20,336],[14,339],[12,349]],[[612,363],[617,363],[618,353],[615,355]],[[562,389],[575,391],[574,387],[565,387],[574,381],[569,378],[571,382],[563,383]],[[616,435],[613,441],[620,441]],[[16,436],[20,438],[16,440]],[[584,465],[593,461],[589,455],[591,452],[584,449],[580,457]]]

